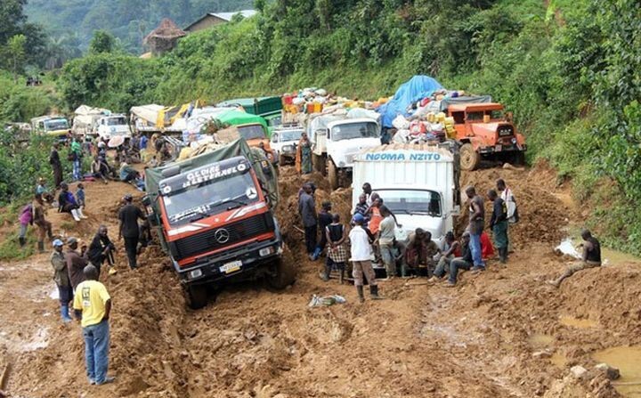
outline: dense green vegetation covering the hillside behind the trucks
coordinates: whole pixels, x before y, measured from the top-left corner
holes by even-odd
[[[505,103],[530,161],[547,159],[560,182],[572,181],[576,198],[594,209],[589,224],[610,245],[641,249],[636,0],[275,0],[256,9],[156,59],[127,54],[114,37],[90,45],[47,79],[51,94],[40,101],[126,111],[306,85],[377,98],[426,74]],[[93,40],[110,37],[99,35]],[[20,102],[0,90],[4,103]],[[2,109],[0,118],[27,117]]]

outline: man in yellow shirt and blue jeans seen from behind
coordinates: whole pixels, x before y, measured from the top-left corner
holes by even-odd
[[[81,321],[85,338],[85,362],[89,383],[112,383],[107,376],[109,368],[111,297],[107,288],[98,281],[98,269],[89,264],[83,270],[85,281],[76,288],[74,310]]]

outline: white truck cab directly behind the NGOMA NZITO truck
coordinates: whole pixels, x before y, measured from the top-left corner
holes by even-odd
[[[327,170],[329,184],[337,189],[352,174],[353,159],[361,150],[380,145],[381,127],[374,118],[321,115],[307,126],[316,171]]]

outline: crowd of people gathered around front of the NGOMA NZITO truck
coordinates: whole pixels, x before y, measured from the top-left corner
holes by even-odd
[[[448,287],[456,286],[461,270],[483,272],[486,259],[493,254],[494,248],[500,264],[506,264],[509,224],[517,223],[519,219],[514,194],[502,179],[496,182],[496,189],[486,192],[485,198],[477,194],[475,187],[467,187],[467,230],[458,239],[453,231],[448,232],[439,247],[432,240],[431,231],[421,228],[412,231],[407,242],[397,240],[396,231],[402,225],[370,183],[363,184],[349,225],[341,223],[340,215],[331,214],[329,202],[323,202],[321,211],[316,213],[314,191],[313,183],[305,183],[298,199],[307,254],[315,261],[326,252],[326,263],[321,272],[323,280],[329,280],[330,273],[336,269],[342,282],[345,264],[351,261],[353,280],[361,301],[363,280],[368,281],[371,295],[379,297],[372,264],[382,265],[379,268],[385,269],[386,280],[425,276],[433,283],[448,276],[445,280]],[[491,201],[489,217],[485,215],[486,199]],[[486,228],[492,231],[493,246],[484,232]]]

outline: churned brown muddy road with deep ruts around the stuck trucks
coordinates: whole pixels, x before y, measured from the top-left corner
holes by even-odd
[[[261,284],[225,289],[206,308],[191,311],[158,248],[141,269],[104,282],[113,297],[110,371],[116,383],[89,386],[77,324],[59,321],[48,256],[0,264],[0,366],[10,364],[7,392],[16,397],[614,397],[593,354],[641,344],[639,264],[610,262],[551,288],[544,281],[570,261],[554,248],[580,218],[567,187],[546,167],[485,169],[462,185],[491,187],[503,177],[519,202],[521,223],[511,231],[515,253],[505,267],[461,274],[457,288],[425,279],[381,282],[385,300],[359,304],[353,286],[318,277],[321,261],[302,255],[296,192],[303,179],[285,169],[280,223],[288,261],[298,267],[292,287]],[[351,192],[329,193],[321,176],[317,204],[331,199],[349,213]],[[117,236],[124,184],[87,184],[90,219],[67,234],[91,238],[99,223]],[[6,230],[6,228],[5,228]],[[316,295],[347,303],[309,308]],[[588,370],[570,376],[572,366]],[[641,381],[641,380],[640,380]],[[630,395],[632,396],[632,395]]]

